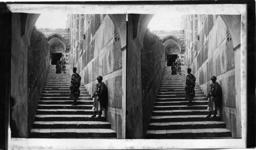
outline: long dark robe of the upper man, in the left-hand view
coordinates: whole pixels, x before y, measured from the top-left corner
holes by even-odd
[[[80,95],[79,87],[80,85],[77,84],[78,80],[81,80],[79,74],[75,73],[71,77],[71,84],[70,84],[70,99],[71,100],[78,100]]]

